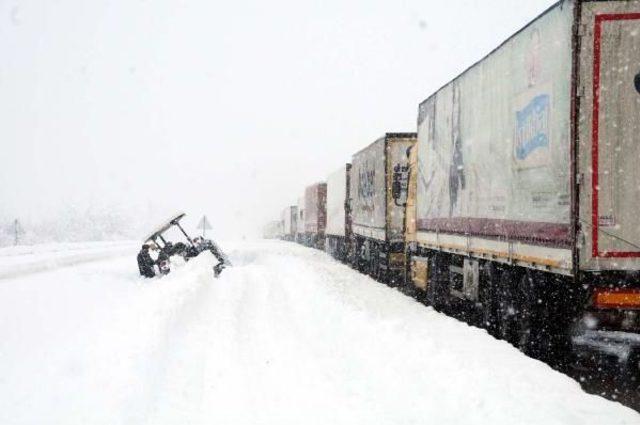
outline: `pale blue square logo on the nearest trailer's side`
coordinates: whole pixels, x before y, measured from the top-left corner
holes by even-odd
[[[516,112],[516,159],[522,161],[536,149],[549,147],[549,106],[549,95],[541,94]]]

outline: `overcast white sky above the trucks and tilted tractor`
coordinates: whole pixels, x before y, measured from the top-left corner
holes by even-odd
[[[252,235],[554,2],[0,0],[0,220]]]

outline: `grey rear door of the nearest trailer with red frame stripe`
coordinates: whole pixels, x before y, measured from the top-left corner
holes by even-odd
[[[583,2],[580,265],[640,269],[640,1]]]

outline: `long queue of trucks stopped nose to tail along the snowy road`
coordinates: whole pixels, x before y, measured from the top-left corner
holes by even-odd
[[[640,1],[556,3],[424,100],[416,133],[355,153],[265,236],[637,388],[638,34]]]

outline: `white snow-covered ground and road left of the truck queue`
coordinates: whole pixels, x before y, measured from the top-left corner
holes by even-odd
[[[223,246],[217,280],[135,251],[0,278],[0,423],[640,424],[322,252]]]

